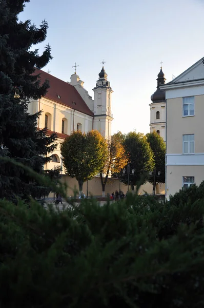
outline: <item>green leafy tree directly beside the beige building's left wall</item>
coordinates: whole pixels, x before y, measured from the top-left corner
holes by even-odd
[[[153,194],[155,194],[156,183],[165,183],[166,143],[156,131],[147,133],[146,137],[154,153],[155,167],[149,177],[149,182],[153,184]],[[158,171],[160,172],[159,176],[157,176]]]

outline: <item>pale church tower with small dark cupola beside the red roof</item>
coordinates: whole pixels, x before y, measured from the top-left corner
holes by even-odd
[[[97,129],[105,138],[111,136],[111,123],[113,120],[111,111],[111,95],[113,90],[111,89],[110,82],[107,80],[107,73],[103,67],[99,72],[99,79],[96,82],[94,91],[94,120],[93,129]]]

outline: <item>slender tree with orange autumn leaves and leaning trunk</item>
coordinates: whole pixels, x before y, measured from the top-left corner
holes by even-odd
[[[125,146],[121,142],[121,132],[115,133],[109,140],[108,144],[108,156],[106,164],[103,170],[100,172],[100,181],[102,186],[102,196],[105,197],[105,187],[108,180],[108,176],[111,174],[117,174],[123,169],[128,162],[128,155],[126,153]]]

